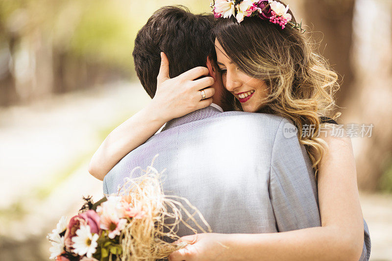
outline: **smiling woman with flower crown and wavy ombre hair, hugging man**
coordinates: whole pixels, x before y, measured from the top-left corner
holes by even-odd
[[[336,122],[325,117],[334,109],[337,74],[314,51],[311,40],[281,1],[217,0],[213,10],[217,21],[212,40],[223,85],[232,94],[237,110],[279,115],[298,128],[299,142],[316,173],[321,227],[269,234],[186,236],[181,240],[191,244],[172,253],[170,260],[368,260],[370,242],[368,234],[364,235],[351,141],[335,137]],[[161,57],[157,92],[149,109],[117,127],[94,154],[89,172],[98,179],[168,120],[190,113],[190,108],[211,104],[211,98],[206,103],[191,99],[191,93],[181,97],[176,92],[163,92],[178,85],[177,77],[164,77],[169,74],[169,61],[165,54]],[[213,93],[209,90],[207,98]],[[302,135],[305,126],[313,126],[313,130]],[[318,135],[321,129],[325,135]],[[129,141],[126,145],[124,137]],[[229,248],[222,251],[214,247],[217,241]]]

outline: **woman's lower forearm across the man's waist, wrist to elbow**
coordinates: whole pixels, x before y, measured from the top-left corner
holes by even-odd
[[[229,251],[241,261],[358,261],[361,252],[352,235],[337,227],[312,227],[266,234],[232,234]]]

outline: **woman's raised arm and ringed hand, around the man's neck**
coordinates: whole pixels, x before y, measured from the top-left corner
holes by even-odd
[[[164,53],[161,58],[157,90],[150,104],[114,129],[94,153],[88,171],[99,180],[103,180],[126,154],[146,142],[165,122],[212,103],[215,91],[207,87],[214,84],[214,79],[194,80],[208,74],[207,68],[196,67],[170,79],[169,60]],[[204,89],[206,99],[200,100],[201,89]]]

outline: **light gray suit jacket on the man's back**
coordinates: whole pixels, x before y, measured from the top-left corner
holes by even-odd
[[[207,107],[169,121],[128,153],[103,180],[117,192],[130,171],[150,165],[166,170],[166,194],[187,198],[215,233],[271,233],[320,226],[317,183],[296,135],[285,138],[288,119]],[[196,218],[199,224],[201,220]],[[365,225],[361,260],[368,260]],[[180,226],[178,236],[192,234]]]

